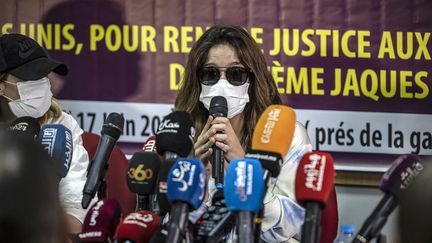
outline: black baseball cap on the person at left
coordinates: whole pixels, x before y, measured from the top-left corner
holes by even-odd
[[[48,58],[44,49],[33,39],[21,34],[0,36],[0,76],[10,73],[24,81],[37,80],[50,72],[66,75],[64,63]]]

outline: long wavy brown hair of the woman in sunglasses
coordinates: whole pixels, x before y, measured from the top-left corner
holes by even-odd
[[[243,124],[240,138],[243,147],[249,148],[260,115],[269,105],[281,104],[281,99],[261,49],[243,27],[215,25],[204,32],[189,53],[182,85],[175,101],[175,110],[191,113],[195,121],[196,134],[199,136],[209,112],[199,101],[201,85],[197,71],[206,63],[209,50],[220,44],[232,46],[240,62],[252,72],[249,77],[249,103],[243,111],[243,120],[246,122]]]

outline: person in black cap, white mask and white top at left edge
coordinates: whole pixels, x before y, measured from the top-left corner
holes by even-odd
[[[81,207],[89,158],[83,147],[83,130],[75,119],[62,112],[51,92],[48,74],[67,75],[65,64],[52,60],[33,39],[20,34],[0,36],[0,126],[19,117],[37,118],[40,125],[61,124],[72,132],[73,155],[59,193],[68,214],[70,231],[80,232],[86,210]]]

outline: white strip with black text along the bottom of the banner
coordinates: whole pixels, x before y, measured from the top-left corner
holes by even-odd
[[[121,142],[142,143],[157,131],[172,104],[62,100],[63,109],[81,127],[100,133],[110,112],[123,114]],[[432,154],[432,115],[296,110],[314,149],[329,152]]]

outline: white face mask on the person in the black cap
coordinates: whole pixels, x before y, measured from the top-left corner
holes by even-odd
[[[5,82],[17,86],[19,100],[12,100],[3,95],[9,100],[9,108],[16,117],[39,118],[50,108],[52,93],[51,84],[47,77],[35,81]]]

